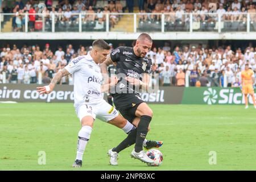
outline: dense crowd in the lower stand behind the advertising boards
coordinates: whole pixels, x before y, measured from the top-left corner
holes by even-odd
[[[58,47],[56,51],[48,43],[43,48],[7,45],[0,49],[0,82],[5,75],[7,83],[30,84],[41,79],[43,84],[48,84],[72,58],[86,55],[90,49],[90,46],[80,46],[75,50],[72,44]],[[231,46],[204,48],[201,44],[171,49],[166,42],[164,47],[153,47],[147,56],[152,60],[152,73],[159,73],[159,83],[163,86],[184,86],[185,73],[188,73],[190,86],[224,86],[226,75],[228,86],[239,87],[245,64],[256,72],[256,47],[252,46],[244,51],[232,50]],[[152,75],[155,83],[156,77]],[[64,77],[59,84],[72,85],[72,76]]]

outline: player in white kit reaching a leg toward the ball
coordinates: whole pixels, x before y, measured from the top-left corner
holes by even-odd
[[[62,77],[69,74],[73,75],[74,106],[82,126],[78,134],[77,155],[73,167],[82,166],[82,155],[90,139],[93,122],[96,118],[121,128],[125,133],[135,129],[101,96],[102,92],[117,83],[117,80],[115,80],[113,83],[101,85],[100,63],[103,63],[110,53],[108,43],[98,39],[93,42],[92,46],[93,49],[88,55],[76,57],[64,69],[56,73],[49,85],[36,88],[40,94],[49,94]],[[117,165],[117,156],[110,156],[110,164]]]

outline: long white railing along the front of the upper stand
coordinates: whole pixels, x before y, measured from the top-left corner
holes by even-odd
[[[31,24],[29,15],[36,15]],[[56,14],[0,14],[0,32],[255,32],[256,13],[109,13],[104,14],[102,23],[95,19],[97,14],[71,14],[63,20],[64,13]],[[20,18],[18,26],[16,18]],[[125,21],[125,26],[113,27],[116,22]],[[5,28],[7,22],[12,28]],[[129,29],[129,27],[132,27]]]

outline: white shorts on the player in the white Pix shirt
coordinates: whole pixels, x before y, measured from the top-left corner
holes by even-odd
[[[101,121],[108,122],[118,116],[118,111],[108,102],[102,101],[95,104],[82,104],[76,109],[77,117],[82,121],[85,116],[91,116],[93,119],[100,119]]]

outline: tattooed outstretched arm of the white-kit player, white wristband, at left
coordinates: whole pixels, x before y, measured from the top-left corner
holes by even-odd
[[[60,81],[60,79],[64,76],[69,75],[70,73],[67,71],[67,69],[61,69],[59,72],[56,73],[56,75],[52,78],[52,81],[49,85],[47,86],[39,86],[36,88],[37,92],[39,92],[39,94],[49,94],[52,92],[52,90],[54,89],[55,85],[57,84],[57,82]]]

